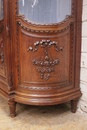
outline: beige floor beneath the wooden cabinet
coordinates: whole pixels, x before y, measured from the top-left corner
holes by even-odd
[[[8,104],[0,97],[0,130],[87,130],[87,115],[73,114],[66,105],[17,104],[17,116],[10,118]]]

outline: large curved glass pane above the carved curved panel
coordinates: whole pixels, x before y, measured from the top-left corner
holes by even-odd
[[[19,0],[19,14],[32,23],[59,23],[71,15],[71,0]]]

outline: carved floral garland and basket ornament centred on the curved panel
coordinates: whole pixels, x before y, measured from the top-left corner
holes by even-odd
[[[55,51],[60,52],[63,50],[63,47],[59,47],[57,45],[56,41],[51,41],[51,40],[42,40],[42,41],[37,41],[34,43],[34,48],[29,46],[28,47],[28,52],[36,52],[39,49],[39,46],[43,48],[44,50],[44,58],[43,59],[33,59],[32,63],[34,66],[36,66],[36,70],[40,73],[41,79],[48,80],[50,78],[50,73],[55,71],[55,66],[60,63],[59,59],[53,59],[50,58],[48,54],[49,48],[54,46]]]

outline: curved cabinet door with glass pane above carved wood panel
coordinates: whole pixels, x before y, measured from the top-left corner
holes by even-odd
[[[75,6],[75,0],[16,1],[20,91],[74,87]]]

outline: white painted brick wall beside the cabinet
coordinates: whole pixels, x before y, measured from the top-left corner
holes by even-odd
[[[87,113],[87,0],[83,0],[82,17],[82,50],[81,50],[81,78],[80,87],[82,97],[79,102],[79,110]]]

